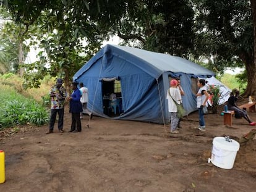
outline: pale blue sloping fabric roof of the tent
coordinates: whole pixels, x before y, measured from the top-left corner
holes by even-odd
[[[75,73],[73,79],[75,80],[79,78],[80,75],[90,69],[90,67],[101,57],[105,60],[104,57],[108,57],[107,55],[111,56],[111,54],[136,65],[154,78],[160,77],[164,72],[186,73],[196,75],[197,77],[211,77],[215,75],[211,70],[205,69],[204,67],[186,59],[182,59],[181,57],[146,51],[139,48],[106,44],[106,46],[97,52],[86,65],[83,65],[83,67]]]

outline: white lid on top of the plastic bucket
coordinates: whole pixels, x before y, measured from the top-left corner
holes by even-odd
[[[227,151],[238,151],[240,144],[236,140],[226,141],[223,136],[217,136],[213,139],[213,145]]]

